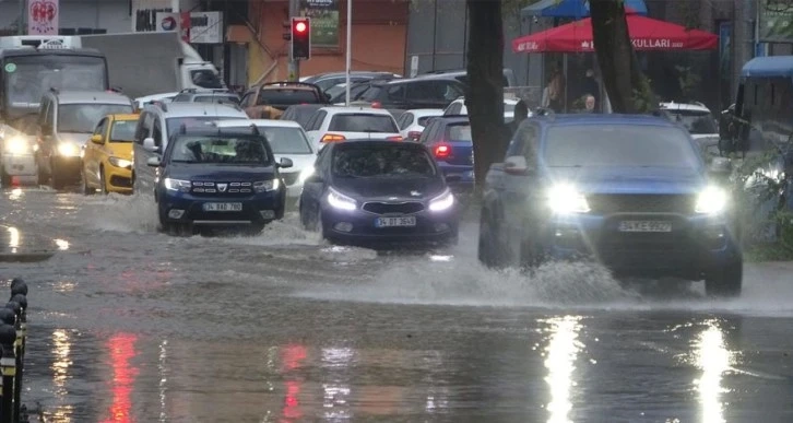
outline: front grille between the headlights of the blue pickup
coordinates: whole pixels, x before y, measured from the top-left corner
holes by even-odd
[[[691,213],[690,195],[592,195],[587,201],[596,213]]]

